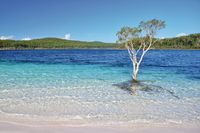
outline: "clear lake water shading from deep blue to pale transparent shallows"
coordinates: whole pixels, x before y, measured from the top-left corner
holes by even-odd
[[[131,72],[126,50],[1,50],[0,118],[200,124],[199,50],[150,50],[138,80],[160,89],[120,89]]]

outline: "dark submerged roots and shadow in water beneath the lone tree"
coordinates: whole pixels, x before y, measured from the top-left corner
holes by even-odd
[[[128,91],[131,95],[136,95],[138,93],[138,91],[145,91],[145,92],[151,92],[151,93],[168,92],[173,97],[176,97],[179,99],[179,97],[177,95],[175,95],[175,92],[172,90],[164,89],[161,86],[144,84],[138,80],[129,80],[129,81],[122,82],[119,84],[114,84],[114,86],[117,86],[122,90]]]

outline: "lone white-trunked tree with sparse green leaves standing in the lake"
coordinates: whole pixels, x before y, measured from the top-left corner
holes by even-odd
[[[155,39],[154,36],[164,27],[165,21],[152,19],[150,21],[141,21],[138,27],[122,27],[121,30],[117,32],[117,42],[125,44],[132,61],[133,82],[137,82],[137,74],[144,55],[158,40]],[[140,56],[139,53],[141,53]]]

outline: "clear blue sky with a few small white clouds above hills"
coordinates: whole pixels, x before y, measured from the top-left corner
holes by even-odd
[[[115,42],[154,18],[166,22],[159,38],[200,33],[200,0],[0,0],[0,39]]]

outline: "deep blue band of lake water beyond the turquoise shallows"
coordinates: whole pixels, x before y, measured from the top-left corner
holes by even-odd
[[[10,63],[103,65],[127,67],[130,69],[126,50],[4,50],[0,51],[0,61]],[[185,74],[191,79],[200,79],[199,50],[150,50],[141,68],[169,69],[177,74]]]

